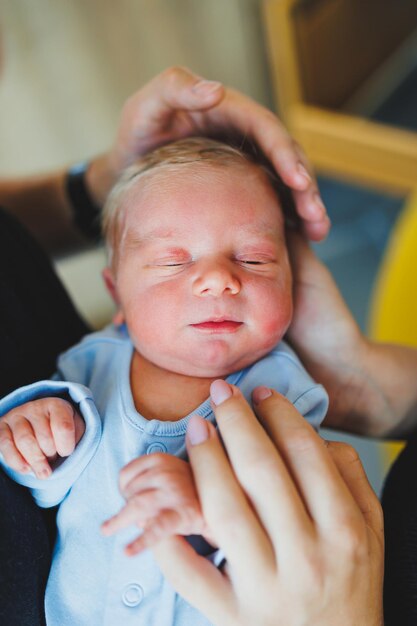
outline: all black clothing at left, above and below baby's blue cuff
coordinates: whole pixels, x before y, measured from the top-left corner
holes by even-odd
[[[0,209],[0,396],[43,378],[89,332],[36,242]],[[0,471],[0,624],[45,623],[54,512]]]

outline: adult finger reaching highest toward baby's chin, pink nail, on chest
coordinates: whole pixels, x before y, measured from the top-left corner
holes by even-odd
[[[275,549],[279,550],[284,543],[302,550],[313,527],[275,442],[271,441],[237,388],[225,381],[215,381],[211,394],[233,470]],[[286,404],[287,401],[277,394],[275,420],[281,419],[281,410],[286,409]]]

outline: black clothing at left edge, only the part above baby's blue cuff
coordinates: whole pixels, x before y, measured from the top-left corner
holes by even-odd
[[[58,354],[87,332],[48,257],[0,209],[0,397],[49,378]]]

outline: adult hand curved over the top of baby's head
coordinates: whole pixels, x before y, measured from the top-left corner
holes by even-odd
[[[120,172],[142,154],[190,135],[231,132],[260,146],[293,190],[307,236],[323,239],[329,221],[316,181],[279,119],[242,93],[182,67],[161,72],[126,101],[113,148],[88,169],[89,187],[101,203]]]

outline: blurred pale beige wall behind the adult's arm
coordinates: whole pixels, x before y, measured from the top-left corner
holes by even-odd
[[[105,150],[125,99],[170,65],[270,103],[257,0],[0,0],[0,24],[2,175]],[[112,311],[103,258],[57,263],[96,326]]]

